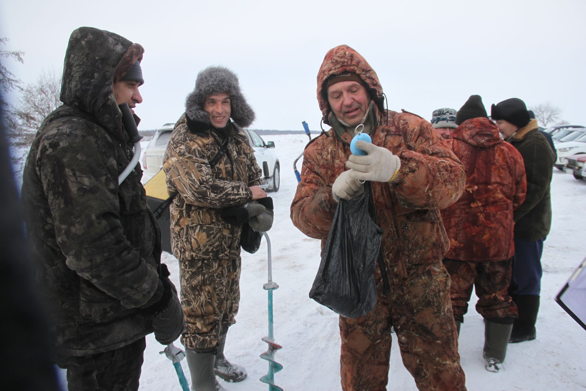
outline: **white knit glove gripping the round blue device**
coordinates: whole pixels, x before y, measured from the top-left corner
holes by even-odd
[[[352,178],[372,182],[389,182],[394,179],[401,168],[401,159],[393,152],[364,141],[357,141],[356,147],[368,155],[350,155],[346,167],[350,168]]]

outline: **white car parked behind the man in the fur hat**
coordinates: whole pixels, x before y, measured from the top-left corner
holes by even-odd
[[[175,124],[168,123],[157,129],[154,137],[145,148],[142,155],[142,183],[147,183],[149,179],[156,175],[163,166],[163,156],[169,143],[169,137]],[[263,169],[263,183],[260,186],[267,191],[278,191],[281,182],[281,168],[279,159],[272,149],[275,143],[272,141],[265,142],[257,132],[251,129],[244,129],[248,137],[250,146],[254,149],[254,156],[261,169]]]

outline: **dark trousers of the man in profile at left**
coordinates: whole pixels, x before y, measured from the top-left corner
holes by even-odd
[[[57,365],[67,369],[69,391],[137,391],[146,347],[142,337],[113,351],[79,357],[57,355]]]

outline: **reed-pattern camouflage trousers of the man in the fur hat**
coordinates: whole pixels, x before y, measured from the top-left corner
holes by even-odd
[[[234,259],[180,260],[185,349],[210,351],[222,330],[236,323],[240,303],[240,256]]]

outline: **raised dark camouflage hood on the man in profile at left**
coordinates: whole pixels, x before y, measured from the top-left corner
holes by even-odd
[[[116,104],[113,86],[137,60],[142,60],[138,43],[105,30],[80,27],[71,33],[65,62],[60,100],[90,114],[118,139],[122,133],[122,113]],[[47,117],[48,123],[66,115],[58,108]]]

